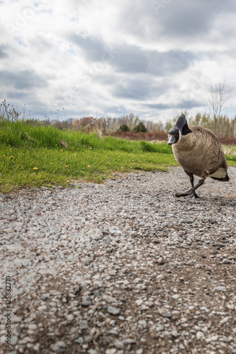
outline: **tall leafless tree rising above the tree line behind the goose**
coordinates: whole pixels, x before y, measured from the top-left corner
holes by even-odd
[[[225,103],[230,98],[230,94],[231,94],[231,91],[226,92],[225,89],[226,89],[225,81],[219,82],[219,84],[215,86],[210,85],[209,88],[208,102],[210,104],[209,107],[210,115],[213,116],[214,129],[217,135],[220,134],[220,127],[219,127],[220,117],[223,113],[223,110],[227,108],[224,106]]]

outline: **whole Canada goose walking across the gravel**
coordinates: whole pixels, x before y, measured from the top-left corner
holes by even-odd
[[[208,176],[218,181],[229,181],[225,154],[213,132],[195,125],[189,127],[185,115],[181,115],[175,127],[169,130],[168,137],[167,144],[172,145],[174,157],[189,176],[192,186],[186,193],[176,193],[176,197],[191,195],[198,198],[195,190]],[[202,178],[195,187],[193,175]]]

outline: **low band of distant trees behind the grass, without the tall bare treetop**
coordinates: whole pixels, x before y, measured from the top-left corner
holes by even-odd
[[[0,106],[0,119],[6,119],[16,122],[21,118],[21,113],[16,111],[13,107],[11,109],[1,109]],[[7,112],[7,114],[6,114]],[[214,116],[210,113],[196,113],[195,116],[189,115],[185,110],[179,113],[185,114],[189,125],[201,125],[206,127],[219,137],[236,137],[236,115],[235,118],[230,118],[228,115],[221,114],[220,116]],[[113,134],[115,132],[165,132],[168,133],[170,128],[174,127],[176,117],[167,120],[167,122],[153,122],[152,120],[140,119],[137,115],[130,113],[129,115],[123,115],[117,118],[111,117],[84,117],[84,118],[69,118],[66,120],[35,120],[32,118],[24,118],[24,120],[30,124],[45,124],[54,125],[57,129],[72,129],[82,130],[84,132],[100,132],[101,135]]]

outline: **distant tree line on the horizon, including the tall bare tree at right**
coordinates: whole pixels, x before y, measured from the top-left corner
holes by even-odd
[[[225,81],[219,82],[215,86],[210,86],[208,92],[208,108],[205,113],[196,113],[195,116],[189,115],[185,110],[180,114],[185,114],[189,125],[200,125],[201,127],[206,127],[220,138],[234,139],[236,140],[236,115],[235,118],[230,118],[228,115],[223,114],[225,110],[225,104],[230,98],[230,91],[226,91]],[[64,108],[63,108],[64,110]],[[180,115],[179,114],[179,115]],[[79,119],[69,118],[66,120],[50,120],[46,118],[45,120],[35,120],[27,119],[26,105],[23,106],[23,112],[16,110],[13,105],[6,103],[6,100],[2,101],[0,104],[0,120],[10,120],[16,122],[18,118],[23,118],[26,122],[30,124],[45,124],[54,125],[57,129],[72,129],[72,130],[82,130],[84,132],[97,132],[99,135],[115,135],[125,137],[130,137],[130,139],[135,139],[135,134],[146,134],[148,133],[150,139],[154,135],[152,133],[158,133],[157,137],[159,139],[166,139],[169,130],[174,127],[176,117],[167,120],[167,122],[153,122],[152,120],[143,120],[137,115],[130,113],[128,115],[123,115],[118,118],[111,117],[84,117]],[[22,116],[22,117],[21,117]],[[140,135],[140,136],[141,136]],[[142,136],[145,139],[144,136]]]

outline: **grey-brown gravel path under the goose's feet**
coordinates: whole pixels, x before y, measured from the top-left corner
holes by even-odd
[[[174,197],[190,188],[180,168],[0,197],[0,352],[235,354],[229,176],[199,200]]]

